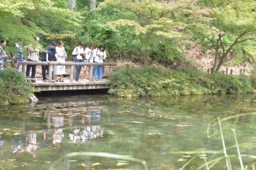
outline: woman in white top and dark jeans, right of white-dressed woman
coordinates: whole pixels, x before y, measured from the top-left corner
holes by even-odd
[[[82,63],[83,62],[83,56],[84,56],[84,43],[79,42],[79,45],[75,47],[75,49],[72,52],[72,55],[75,56],[75,63]],[[76,66],[76,81],[79,81],[79,76],[81,72],[82,66]]]

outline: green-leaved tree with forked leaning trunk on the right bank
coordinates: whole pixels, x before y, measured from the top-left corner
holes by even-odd
[[[238,50],[245,52],[256,41],[256,13],[252,10],[256,1],[208,0],[205,3],[211,4],[210,14],[194,20],[193,30],[196,35],[202,35],[200,41],[211,44],[215,51],[212,72],[219,72],[224,63],[238,56]],[[255,48],[250,50],[256,51]]]

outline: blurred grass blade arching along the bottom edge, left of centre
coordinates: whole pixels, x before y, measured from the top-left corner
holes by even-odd
[[[52,165],[49,167],[49,170],[54,170],[56,169],[56,166],[61,162],[61,160],[65,158],[70,158],[70,157],[77,157],[77,156],[93,156],[93,157],[106,157],[106,158],[116,158],[116,159],[122,159],[122,160],[129,160],[132,162],[137,162],[141,164],[145,170],[148,170],[147,162],[145,160],[140,160],[138,158],[132,158],[132,157],[127,157],[124,155],[116,155],[112,153],[100,153],[100,152],[73,152],[73,153],[68,153],[67,155],[64,155],[58,160],[55,160],[52,162]]]

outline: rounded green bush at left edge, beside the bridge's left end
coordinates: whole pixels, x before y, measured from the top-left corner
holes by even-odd
[[[28,102],[29,93],[33,88],[22,73],[7,67],[0,71],[0,105],[22,104]]]

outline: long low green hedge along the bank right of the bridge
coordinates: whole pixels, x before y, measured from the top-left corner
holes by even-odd
[[[118,96],[160,97],[255,92],[250,77],[207,74],[190,69],[120,68],[109,79],[109,93]]]

